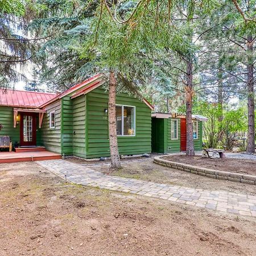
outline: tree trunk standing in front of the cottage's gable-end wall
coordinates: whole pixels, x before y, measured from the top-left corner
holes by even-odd
[[[111,169],[121,168],[121,162],[118,152],[117,143],[117,125],[115,118],[115,94],[117,89],[117,80],[115,79],[115,72],[110,68],[109,73],[109,146],[111,156]]]

